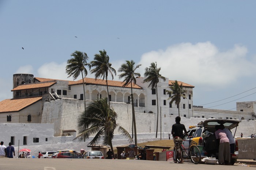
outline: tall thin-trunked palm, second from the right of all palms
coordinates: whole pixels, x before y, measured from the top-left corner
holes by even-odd
[[[157,92],[157,84],[159,82],[159,78],[164,81],[166,80],[166,78],[161,76],[161,74],[159,73],[160,70],[161,70],[161,67],[157,68],[157,62],[155,62],[155,63],[151,63],[150,67],[146,67],[145,73],[144,73],[144,76],[147,78],[144,79],[143,83],[150,82],[148,87],[151,87],[151,90],[156,89],[156,92]],[[158,132],[158,115],[159,115],[159,111],[158,111],[158,93],[157,93],[157,132]],[[157,138],[157,132],[155,134],[155,138]]]

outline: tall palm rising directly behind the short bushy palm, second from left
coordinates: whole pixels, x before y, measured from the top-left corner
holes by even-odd
[[[91,61],[91,67],[95,67],[91,70],[91,73],[95,74],[95,79],[102,78],[103,80],[106,78],[107,84],[107,92],[108,92],[108,101],[110,107],[109,100],[109,88],[108,88],[108,73],[112,76],[112,80],[114,79],[114,75],[116,75],[116,70],[111,67],[111,63],[109,63],[109,56],[105,50],[99,51],[99,54],[94,55],[94,61]]]

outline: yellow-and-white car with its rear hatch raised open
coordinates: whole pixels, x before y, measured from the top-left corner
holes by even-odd
[[[216,138],[214,135],[215,126],[219,124],[223,124],[225,128],[231,130],[236,128],[240,123],[240,120],[232,120],[232,119],[208,119],[204,122],[198,123],[197,126],[193,126],[188,130],[188,136],[193,136],[191,138],[193,141],[197,143],[197,145],[202,146],[201,157],[210,157],[214,155],[218,159],[219,147],[216,142]],[[206,134],[208,133],[208,134]],[[185,136],[185,140],[182,142],[182,145],[185,149],[188,149],[189,138]],[[233,134],[233,137],[235,134]],[[234,165],[238,158],[238,143],[235,143],[235,151],[234,154],[231,154],[231,164]]]

